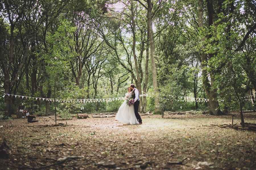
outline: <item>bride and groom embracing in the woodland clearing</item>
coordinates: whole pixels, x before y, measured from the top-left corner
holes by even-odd
[[[131,125],[142,124],[141,116],[138,113],[140,104],[139,90],[135,88],[134,84],[131,84],[127,90],[125,101],[119,107],[115,120]]]

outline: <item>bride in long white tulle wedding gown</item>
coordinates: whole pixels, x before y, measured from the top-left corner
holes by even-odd
[[[127,88],[128,92],[125,94],[125,101],[123,104],[119,107],[118,112],[115,116],[115,120],[122,122],[122,123],[127,123],[127,124],[138,124],[138,120],[135,116],[134,112],[134,106],[133,105],[128,105],[127,100],[129,100],[132,97],[132,90],[130,87]]]

